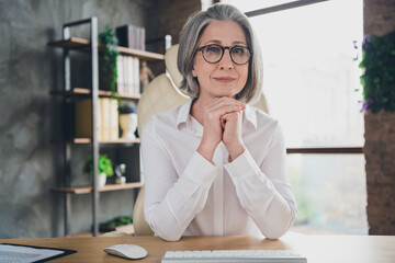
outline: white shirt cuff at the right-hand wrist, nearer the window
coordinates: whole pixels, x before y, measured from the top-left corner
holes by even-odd
[[[225,164],[224,168],[234,181],[244,181],[260,174],[257,162],[247,149],[230,163]]]

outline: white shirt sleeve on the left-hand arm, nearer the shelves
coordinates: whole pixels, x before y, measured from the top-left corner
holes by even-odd
[[[183,172],[178,175],[173,160],[157,133],[154,118],[146,125],[142,136],[145,219],[157,236],[177,241],[195,215],[204,208],[218,169],[194,152]]]

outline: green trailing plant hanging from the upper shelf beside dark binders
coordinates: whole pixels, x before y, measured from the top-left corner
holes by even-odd
[[[114,31],[106,25],[104,32],[99,34],[99,43],[104,45],[102,65],[100,65],[100,72],[102,79],[106,87],[111,91],[111,95],[115,98],[115,88],[117,80],[117,56],[120,52],[117,50],[117,37],[115,36]]]

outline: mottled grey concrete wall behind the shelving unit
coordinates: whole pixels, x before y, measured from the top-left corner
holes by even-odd
[[[61,50],[46,46],[61,38],[66,22],[99,19],[109,24],[146,26],[158,37],[158,1],[150,0],[0,0],[0,238],[57,237],[63,232]],[[82,28],[75,33],[83,36]],[[82,73],[83,76],[83,73]],[[74,147],[74,182],[89,147]],[[133,191],[103,193],[101,220],[131,215]],[[125,204],[129,204],[126,205]],[[89,231],[91,196],[72,198],[71,232]]]

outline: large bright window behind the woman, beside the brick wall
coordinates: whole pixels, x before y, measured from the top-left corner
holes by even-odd
[[[223,2],[251,11],[270,1]],[[289,155],[289,172],[302,231],[368,233],[364,157],[343,153],[363,146],[361,72],[353,60],[353,41],[363,37],[362,4],[331,0],[250,18],[269,113],[280,121],[287,148],[301,150]],[[330,155],[302,153],[328,147]]]

